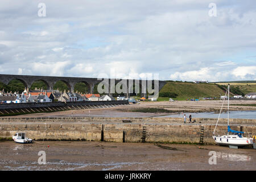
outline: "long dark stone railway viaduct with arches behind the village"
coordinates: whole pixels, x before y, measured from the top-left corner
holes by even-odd
[[[90,93],[93,93],[94,86],[104,80],[98,79],[98,78],[82,78],[82,77],[57,77],[57,76],[30,76],[30,75],[2,75],[0,74],[0,81],[3,82],[3,84],[8,85],[11,80],[20,80],[23,82],[24,86],[26,88],[31,88],[31,85],[35,81],[43,81],[47,85],[47,89],[53,89],[53,86],[56,84],[57,81],[63,81],[65,84],[67,84],[68,88],[71,91],[74,91],[74,87],[79,82],[84,82],[86,86],[89,88]],[[109,79],[109,90],[110,90],[110,82],[115,82],[117,84],[120,79]],[[129,82],[133,82],[133,85],[135,85],[135,82],[139,82],[140,90],[142,90],[143,96],[146,95],[147,85],[142,84],[143,82],[147,83],[147,80],[126,80],[127,82],[127,88],[129,88]],[[154,81],[152,81],[154,83]],[[159,90],[166,84],[166,81],[159,81]],[[142,85],[145,85],[146,88],[144,88]],[[130,92],[134,93],[134,92]],[[129,96],[129,89],[127,89],[126,96]]]

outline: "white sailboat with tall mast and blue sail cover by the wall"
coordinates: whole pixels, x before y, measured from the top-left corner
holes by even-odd
[[[215,142],[221,146],[230,146],[230,147],[244,147],[244,146],[250,146],[253,145],[253,138],[248,138],[248,137],[243,137],[242,134],[244,134],[243,131],[234,131],[232,129],[230,129],[229,126],[229,85],[228,85],[228,89],[226,90],[226,92],[228,92],[228,133],[226,135],[214,135],[217,124],[218,124],[218,120],[215,126],[215,129],[213,131],[213,139],[215,140]],[[225,94],[226,96],[226,94]],[[225,101],[225,97],[224,100],[222,102],[222,106],[221,106],[221,110],[223,107]],[[220,114],[221,114],[221,110],[220,110]],[[218,115],[218,119],[220,119],[220,114]],[[232,134],[229,134],[232,133]]]

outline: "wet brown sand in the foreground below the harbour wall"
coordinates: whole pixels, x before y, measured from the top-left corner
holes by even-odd
[[[256,170],[254,149],[188,144],[159,147],[153,143],[43,143],[1,142],[0,170]],[[39,151],[46,152],[46,164],[38,164]],[[208,163],[210,151],[216,151],[216,165]]]

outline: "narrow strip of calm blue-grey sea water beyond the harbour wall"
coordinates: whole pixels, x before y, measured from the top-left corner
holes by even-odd
[[[183,113],[183,114],[170,114],[158,116],[161,118],[181,118],[183,115],[191,114],[192,118],[218,118],[219,113],[209,112],[209,113]],[[228,113],[222,113],[220,118],[228,118]],[[240,118],[240,119],[256,119],[256,110],[246,110],[246,111],[230,111],[229,118]]]

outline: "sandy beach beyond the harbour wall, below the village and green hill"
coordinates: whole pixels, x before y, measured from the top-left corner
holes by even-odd
[[[230,101],[230,110],[256,110],[255,106],[234,106],[233,104],[255,104],[255,100]],[[214,101],[161,101],[141,102],[140,104],[121,105],[104,109],[82,109],[57,111],[53,113],[36,113],[10,116],[12,118],[26,117],[155,117],[171,113],[139,113],[132,112],[133,109],[161,108],[172,111],[172,113],[197,113],[197,112],[219,112],[222,105],[221,100]],[[224,105],[224,110],[226,106]]]

